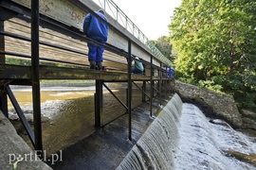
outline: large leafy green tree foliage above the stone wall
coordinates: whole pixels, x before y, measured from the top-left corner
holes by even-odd
[[[238,100],[249,98],[242,104],[255,107],[255,19],[255,0],[183,0],[169,25],[176,70]]]

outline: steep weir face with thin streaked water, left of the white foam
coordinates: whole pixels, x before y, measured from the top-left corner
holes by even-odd
[[[123,161],[121,169],[174,169],[174,148],[177,146],[182,101],[178,94],[161,110],[155,121],[141,136]]]

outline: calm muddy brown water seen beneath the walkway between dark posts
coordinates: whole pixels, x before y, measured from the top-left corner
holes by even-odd
[[[125,89],[114,88],[112,91],[123,103],[126,103]],[[14,90],[13,93],[25,114],[32,115],[31,91],[29,89]],[[41,111],[44,120],[42,124],[43,144],[47,156],[50,156],[53,153],[58,153],[60,150],[68,148],[70,145],[81,142],[98,129],[94,126],[94,93],[95,91],[93,88],[85,88],[82,90],[81,88],[77,88],[76,90],[68,90],[68,88],[56,88],[54,91],[50,87],[43,89],[41,92]],[[142,104],[141,95],[141,92],[139,92],[137,89],[133,90],[133,108]],[[15,120],[16,114],[15,111],[13,111],[10,102],[9,112],[10,118],[14,119],[14,121],[11,121],[14,127],[16,127],[18,133],[25,139],[27,144],[32,147],[32,144],[30,144],[27,138],[26,131],[21,126],[20,122]],[[138,119],[133,123],[133,125],[137,125],[138,131],[140,131],[136,132],[136,130],[134,130],[134,132],[137,134],[134,134],[133,137],[137,139],[143,133],[143,131],[146,130],[146,127],[152,122],[152,119],[149,118],[149,108],[140,109],[138,112],[142,112],[144,117],[137,116]],[[110,121],[124,115],[124,113],[125,109],[121,104],[119,104],[117,99],[111,93],[104,91],[102,125],[107,125]],[[123,125],[123,127],[119,128],[123,130],[121,132],[123,135],[122,140],[124,140],[125,143],[130,144],[127,142],[128,118],[127,115],[124,115],[124,117],[125,118],[120,118],[120,120],[123,122],[119,123],[119,125]],[[139,124],[141,123],[146,125],[146,127],[139,127]],[[101,128],[101,130],[107,130],[107,128],[108,127],[106,126]],[[110,130],[110,132],[113,130]],[[132,145],[133,144],[130,144],[130,147],[132,147]],[[66,154],[66,152],[64,153]],[[74,155],[72,155],[72,157],[74,157]]]

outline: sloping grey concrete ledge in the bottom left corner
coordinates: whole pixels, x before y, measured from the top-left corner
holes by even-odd
[[[0,169],[52,169],[36,156],[1,110],[0,136]]]

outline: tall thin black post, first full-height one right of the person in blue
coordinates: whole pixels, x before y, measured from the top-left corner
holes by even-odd
[[[132,141],[132,42],[128,42],[128,115],[129,115],[129,140]]]

